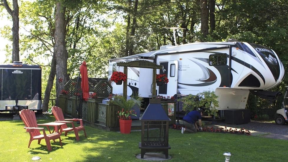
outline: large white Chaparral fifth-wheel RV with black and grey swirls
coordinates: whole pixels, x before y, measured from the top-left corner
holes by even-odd
[[[156,87],[157,95],[183,95],[206,90],[219,96],[218,110],[244,109],[249,90],[268,90],[284,78],[284,67],[268,47],[246,42],[197,42],[166,46],[160,50],[109,60],[108,81],[113,93],[122,93],[123,85],[110,81],[112,71],[122,71],[117,62],[148,60],[163,65],[157,74],[166,74],[169,82]],[[141,97],[152,95],[152,69],[128,67],[128,90]]]

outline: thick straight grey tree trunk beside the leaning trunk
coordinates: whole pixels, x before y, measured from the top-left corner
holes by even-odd
[[[65,7],[61,6],[60,2],[56,3],[55,14],[55,45],[54,52],[56,56],[56,94],[59,94],[64,89],[65,83],[68,81],[67,75],[67,59],[68,52],[65,44]],[[56,98],[56,105],[58,99]]]

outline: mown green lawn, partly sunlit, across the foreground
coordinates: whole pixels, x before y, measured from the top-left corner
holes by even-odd
[[[48,116],[48,120],[38,120],[38,123],[50,121],[54,121],[53,116]],[[34,140],[28,148],[30,136],[23,127],[22,120],[0,121],[1,162],[31,161],[33,156],[40,156],[41,161],[141,161],[136,158],[140,154],[140,131],[124,135],[85,126],[88,138],[83,131],[80,132],[79,142],[73,132],[69,132],[67,137],[62,134],[63,147],[59,140],[56,143],[52,141],[52,151],[48,152],[45,140],[40,145]],[[233,154],[230,158],[233,162],[287,161],[285,148],[288,140],[229,133],[181,134],[179,130],[169,129],[169,144],[169,155],[172,157],[169,161],[225,161],[224,152]]]

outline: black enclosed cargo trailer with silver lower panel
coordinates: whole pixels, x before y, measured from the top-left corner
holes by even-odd
[[[0,112],[21,109],[42,112],[41,67],[22,62],[0,64]]]

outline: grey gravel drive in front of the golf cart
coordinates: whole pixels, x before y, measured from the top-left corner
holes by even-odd
[[[246,130],[269,133],[261,135],[261,137],[288,140],[288,124],[277,125],[275,123],[251,121],[250,123],[235,125],[235,124],[227,124],[224,121],[217,121],[214,125],[224,127],[226,126],[231,128],[244,128]]]

